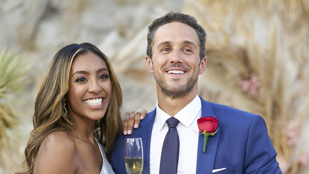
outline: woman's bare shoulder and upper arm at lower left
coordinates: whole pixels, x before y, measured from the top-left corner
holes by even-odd
[[[34,173],[72,173],[77,170],[76,147],[65,132],[49,134],[37,153]]]

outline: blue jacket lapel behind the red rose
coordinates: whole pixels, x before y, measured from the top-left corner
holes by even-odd
[[[201,98],[201,104],[202,104],[201,117],[217,118],[209,102]],[[214,168],[214,159],[217,152],[220,132],[221,128],[218,127],[218,132],[214,136],[209,136],[205,153],[203,152],[204,134],[199,135],[198,146],[197,146],[197,164],[196,164],[197,174],[212,173],[212,170]]]

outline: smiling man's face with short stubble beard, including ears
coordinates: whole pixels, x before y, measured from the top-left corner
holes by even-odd
[[[162,25],[155,32],[152,50],[152,60],[146,56],[146,63],[164,95],[179,97],[197,89],[206,57],[200,64],[199,40],[193,28],[180,22]]]

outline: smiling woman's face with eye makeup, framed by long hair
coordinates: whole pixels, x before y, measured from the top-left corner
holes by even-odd
[[[69,91],[65,100],[75,121],[87,122],[104,117],[112,95],[108,68],[102,58],[92,52],[75,57],[72,63]]]

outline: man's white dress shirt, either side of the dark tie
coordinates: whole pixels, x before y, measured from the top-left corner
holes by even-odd
[[[150,173],[158,174],[162,145],[168,131],[165,122],[169,116],[158,105],[156,108],[155,121],[152,128],[150,141]],[[198,126],[197,119],[201,117],[201,99],[197,95],[187,106],[182,108],[175,116],[180,123],[177,125],[179,135],[179,161],[177,173],[192,174],[196,172]],[[197,133],[195,133],[197,132]]]

